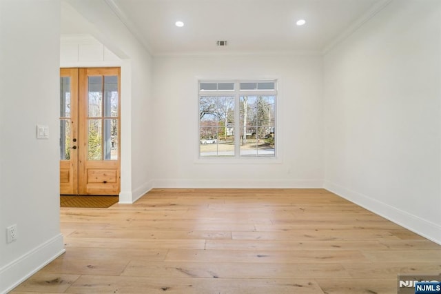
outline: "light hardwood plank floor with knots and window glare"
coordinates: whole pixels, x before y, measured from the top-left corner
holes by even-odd
[[[155,189],[61,208],[66,253],[19,293],[397,293],[441,246],[323,189]]]

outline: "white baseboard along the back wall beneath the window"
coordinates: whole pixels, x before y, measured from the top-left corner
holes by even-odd
[[[154,188],[323,188],[316,179],[157,179]]]

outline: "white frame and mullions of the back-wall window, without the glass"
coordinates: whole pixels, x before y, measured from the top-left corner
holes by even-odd
[[[240,90],[240,83],[274,83],[274,90]],[[201,83],[234,83],[234,90],[201,90]],[[201,96],[209,97],[234,97],[234,156],[201,156],[201,144],[200,144],[200,132],[201,132],[201,119],[198,119],[197,128],[197,160],[198,163],[280,163],[280,130],[278,126],[279,115],[278,115],[278,105],[279,105],[279,93],[278,93],[278,79],[256,79],[256,80],[222,80],[222,79],[198,79],[197,89],[198,89],[198,112],[200,110]],[[241,156],[240,155],[240,97],[241,96],[274,96],[274,156]]]

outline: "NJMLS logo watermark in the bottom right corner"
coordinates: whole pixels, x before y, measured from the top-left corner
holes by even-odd
[[[398,275],[398,294],[441,294],[441,273]]]

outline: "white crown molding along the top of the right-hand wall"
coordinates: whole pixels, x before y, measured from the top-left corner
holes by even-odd
[[[342,43],[342,41],[345,41],[345,39],[361,28],[365,23],[367,23],[367,21],[369,21],[372,17],[375,17],[378,12],[388,6],[391,1],[392,0],[380,0],[378,3],[374,4],[371,9],[369,9],[365,14],[362,15],[362,17],[359,17],[350,26],[348,26],[348,28],[340,33],[340,35],[325,44],[325,47],[322,50],[322,55],[326,55],[327,52],[329,52],[332,48],[337,46],[339,43]]]

